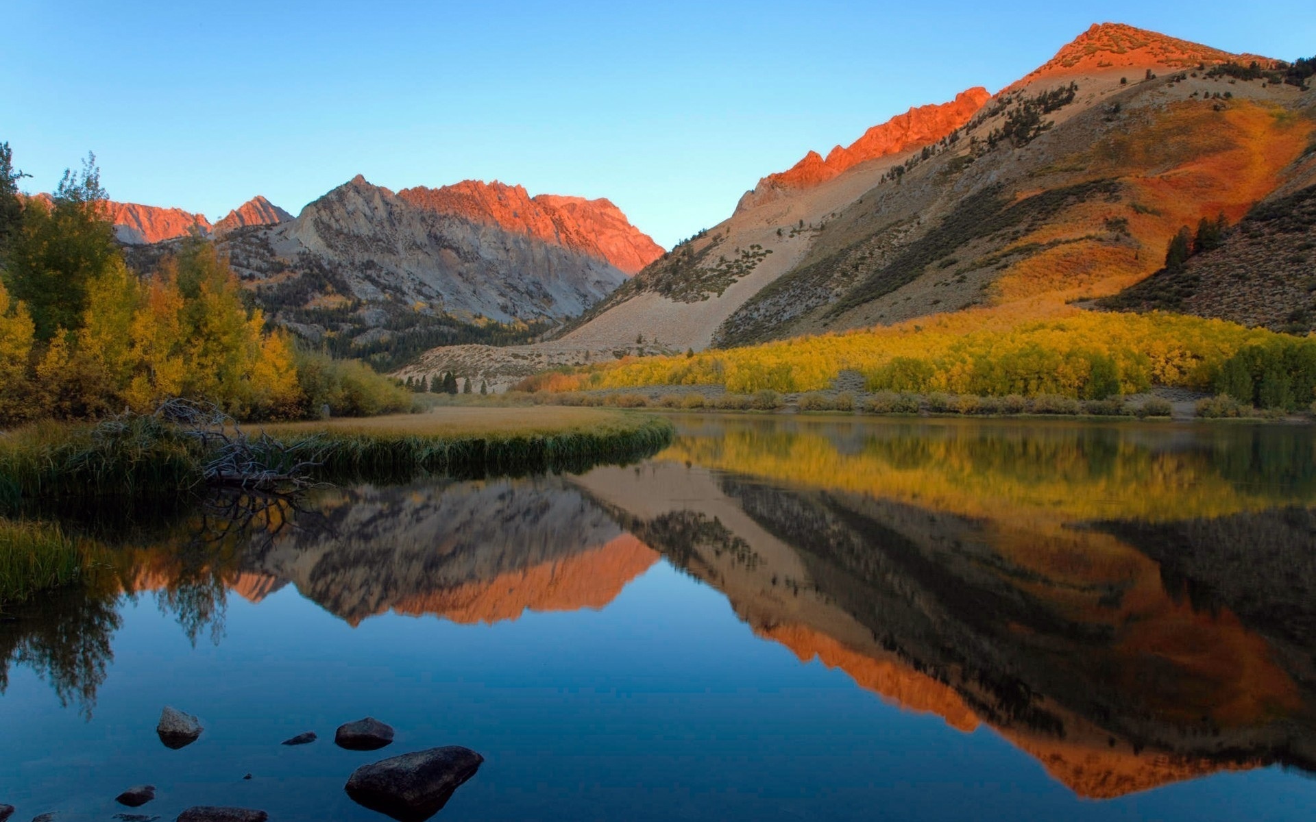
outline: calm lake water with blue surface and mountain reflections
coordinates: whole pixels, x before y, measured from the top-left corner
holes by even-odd
[[[0,622],[0,802],[382,819],[357,765],[463,744],[440,819],[1316,815],[1311,429],[678,425],[580,476],[71,523],[113,572]],[[365,715],[396,742],[334,747]]]

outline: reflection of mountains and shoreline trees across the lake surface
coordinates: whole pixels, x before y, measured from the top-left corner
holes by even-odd
[[[603,609],[663,558],[801,662],[988,725],[1083,797],[1316,769],[1305,429],[683,426],[636,467],[328,489],[211,541],[184,517],[113,548],[113,584],[0,625],[0,660],[89,710],[118,596],[193,641],[222,641],[228,591],[290,583],[351,625],[494,623]]]

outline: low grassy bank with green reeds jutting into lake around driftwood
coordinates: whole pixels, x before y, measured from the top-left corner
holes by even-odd
[[[267,455],[268,464],[307,462],[309,479],[334,481],[579,470],[653,454],[671,441],[672,426],[616,410],[437,408],[287,423],[267,433],[268,442],[257,442],[255,452]],[[0,510],[37,500],[186,493],[207,481],[215,448],[154,417],[20,429],[0,437]]]

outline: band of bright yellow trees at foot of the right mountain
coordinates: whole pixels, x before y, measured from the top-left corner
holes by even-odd
[[[1278,337],[1221,320],[1177,314],[1091,313],[1066,306],[1049,320],[1007,312],[944,314],[899,326],[800,337],[695,356],[628,358],[538,380],[544,391],[640,385],[724,385],[750,393],[820,391],[841,371],[871,389],[1004,396],[1084,396],[1092,370],[1113,360],[1119,393],[1149,384],[1208,388],[1220,363]],[[973,330],[974,326],[982,326]]]

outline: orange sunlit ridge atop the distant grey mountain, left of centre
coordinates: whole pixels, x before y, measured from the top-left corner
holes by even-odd
[[[630,225],[608,200],[557,195],[529,196],[521,185],[463,180],[442,188],[404,188],[397,196],[437,214],[496,225],[601,259],[636,274],[662,256],[662,246]]]

